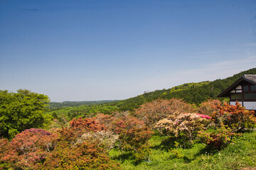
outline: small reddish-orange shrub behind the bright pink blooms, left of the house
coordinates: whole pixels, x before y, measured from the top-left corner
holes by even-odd
[[[221,105],[221,101],[219,100],[208,100],[201,103],[200,107],[198,108],[198,113],[204,115],[212,115],[214,111],[218,111],[218,106]]]

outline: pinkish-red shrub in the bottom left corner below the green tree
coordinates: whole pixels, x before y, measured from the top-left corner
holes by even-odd
[[[46,130],[31,128],[18,133],[11,142],[2,141],[0,162],[14,169],[34,169],[57,145],[57,135]],[[8,166],[7,166],[8,167]]]

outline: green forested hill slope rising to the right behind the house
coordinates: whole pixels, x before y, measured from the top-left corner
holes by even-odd
[[[200,83],[188,83],[175,86],[171,89],[151,91],[134,98],[110,103],[110,105],[117,105],[120,111],[127,111],[139,107],[144,102],[153,101],[157,98],[183,98],[188,103],[195,103],[198,105],[202,101],[206,101],[208,98],[217,98],[221,91],[233,84],[237,79],[242,77],[243,74],[256,74],[256,68],[240,72],[233,75],[233,77],[228,77],[226,79],[203,81]]]

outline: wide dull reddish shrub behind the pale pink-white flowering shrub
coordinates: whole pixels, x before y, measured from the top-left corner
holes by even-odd
[[[171,100],[158,99],[149,103],[143,104],[135,110],[136,115],[140,120],[143,120],[150,128],[154,128],[156,123],[175,112],[184,113],[193,112],[193,107],[182,99],[173,98]]]

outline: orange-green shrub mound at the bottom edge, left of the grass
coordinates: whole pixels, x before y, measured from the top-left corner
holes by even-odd
[[[73,146],[62,140],[45,162],[38,164],[38,169],[118,169],[118,166],[101,147],[92,142]]]

